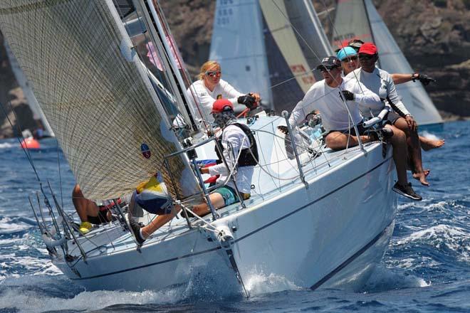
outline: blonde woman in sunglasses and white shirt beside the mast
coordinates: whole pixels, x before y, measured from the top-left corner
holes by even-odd
[[[212,104],[217,99],[228,99],[232,105],[246,105],[250,109],[255,108],[261,101],[258,93],[249,92],[248,95],[244,95],[222,80],[221,75],[219,63],[209,60],[201,66],[199,80],[189,86],[187,90],[196,116],[200,116],[204,120],[207,120],[211,114]],[[199,112],[199,109],[202,112]]]

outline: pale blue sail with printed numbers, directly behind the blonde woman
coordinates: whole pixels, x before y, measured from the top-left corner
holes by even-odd
[[[256,0],[217,1],[209,60],[240,92],[259,92],[272,107],[261,11]]]

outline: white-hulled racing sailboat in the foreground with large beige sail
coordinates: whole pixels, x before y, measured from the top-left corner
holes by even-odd
[[[144,25],[131,36],[125,25],[135,18]],[[0,1],[0,29],[85,197],[132,193],[155,172],[184,212],[207,196],[196,162],[214,157],[214,137],[187,107],[184,70],[172,57],[175,51],[179,58],[177,48],[165,39],[172,36],[158,4]],[[150,68],[150,42],[163,70]],[[173,108],[190,137],[172,127]],[[258,142],[251,198],[209,216],[179,215],[142,246],[122,219],[126,207],[115,207],[115,221],[79,235],[72,210],[41,184],[41,201],[30,203],[53,264],[88,290],[223,285],[248,296],[253,275],[312,290],[362,287],[395,225],[391,149],[382,142],[343,151],[294,144],[289,158],[277,129],[286,118],[240,120]],[[137,221],[153,217],[142,213]]]

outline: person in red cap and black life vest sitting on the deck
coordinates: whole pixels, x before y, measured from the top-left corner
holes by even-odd
[[[227,168],[225,163],[221,162],[214,166],[203,167],[200,169],[201,173],[211,174],[211,176],[219,175],[216,183],[224,184],[233,171],[234,173],[232,174],[234,174],[234,180],[236,181],[236,186],[234,181],[230,180],[226,185],[215,189],[209,194],[209,200],[211,201],[212,206],[217,210],[224,206],[229,206],[233,203],[239,202],[240,198],[243,198],[244,200],[250,198],[251,177],[253,176],[254,166],[258,162],[258,151],[256,139],[253,134],[251,134],[249,127],[236,122],[234,105],[232,105],[230,100],[216,100],[212,106],[211,115],[214,117],[217,126],[221,128],[221,135],[217,140],[219,140],[221,144],[223,157],[229,167]],[[162,191],[160,196],[161,204],[157,201],[154,206],[155,211],[151,212],[159,214],[157,218],[152,220],[147,226],[141,227],[137,221],[132,218],[132,216],[126,216],[131,233],[140,245],[142,245],[142,243],[144,243],[144,241],[154,233],[155,230],[171,221],[172,218],[181,211],[179,206],[174,206],[172,211],[168,211],[168,208],[166,209],[167,211],[163,210],[164,206],[168,203],[167,199],[169,199],[169,196],[166,193],[166,188],[164,188],[164,183],[161,181],[159,184],[160,190]],[[148,188],[148,186],[145,188]],[[239,191],[238,195],[236,189]],[[145,201],[139,202],[140,193],[138,193],[138,191],[139,190],[137,189],[135,194],[136,202],[140,204],[142,208],[150,211],[146,208]],[[164,193],[166,193],[166,196]],[[207,203],[200,203],[193,206],[192,211],[198,216],[205,216],[209,213],[209,206]]]

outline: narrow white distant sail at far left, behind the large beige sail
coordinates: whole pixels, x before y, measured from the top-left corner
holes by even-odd
[[[8,55],[10,61],[11,70],[13,70],[13,73],[15,75],[16,82],[18,82],[21,87],[21,90],[23,90],[23,95],[28,101],[28,106],[31,109],[31,112],[33,112],[33,120],[41,121],[41,127],[43,127],[44,131],[43,136],[54,137],[54,132],[51,128],[51,125],[49,125],[49,122],[47,121],[43,110],[41,110],[41,107],[38,104],[38,100],[36,100],[36,97],[34,96],[33,88],[31,87],[31,82],[26,79],[26,76],[23,74],[23,70],[21,70],[18,61],[16,61],[16,58],[13,52],[11,51],[9,44],[6,41],[4,41],[4,46],[6,55]]]

